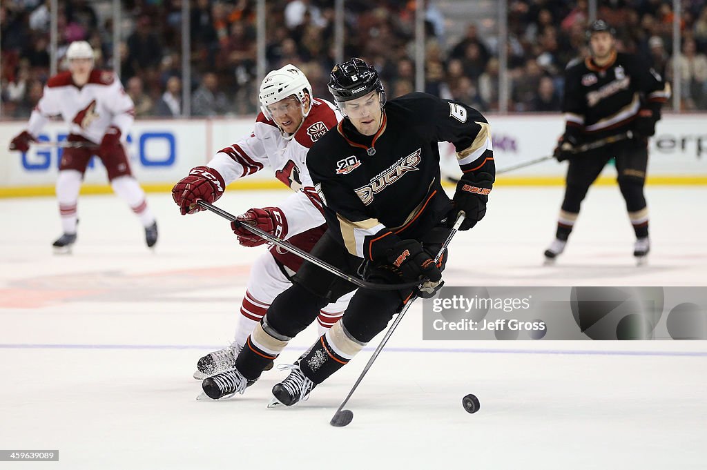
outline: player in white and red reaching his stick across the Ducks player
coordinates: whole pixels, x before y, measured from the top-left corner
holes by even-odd
[[[322,201],[312,184],[305,158],[312,144],[339,122],[341,114],[331,103],[314,98],[307,77],[289,64],[267,74],[260,85],[259,100],[262,112],[252,133],[218,151],[206,166],[193,168],[175,184],[172,196],[182,215],[201,211],[197,200],[212,203],[221,197],[226,184],[269,165],[275,170],[275,177],[295,194],[277,207],[251,208],[239,218],[309,252],[325,232],[326,224]],[[233,230],[240,244],[246,247],[266,243],[235,224]],[[299,257],[277,247],[271,247],[257,259],[240,307],[233,343],[199,359],[194,378],[201,379],[234,367],[247,336],[265,315],[272,300],[291,286],[290,278],[301,264]],[[317,318],[320,331],[337,322],[351,295],[320,310]]]

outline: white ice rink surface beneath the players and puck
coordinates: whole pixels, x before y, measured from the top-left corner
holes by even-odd
[[[238,214],[286,192],[230,192]],[[448,286],[707,286],[707,188],[648,187],[648,266],[617,187],[590,190],[556,266],[542,266],[562,188],[497,187],[452,242]],[[422,341],[411,307],[349,408],[329,419],[370,350],[293,409],[266,409],[285,372],[196,401],[203,353],[231,339],[249,266],[211,213],[150,194],[156,251],[115,196],[79,200],[71,256],[52,198],[0,200],[0,448],[59,450],[61,469],[704,469],[704,341]],[[316,338],[313,327],[277,361]],[[370,347],[373,346],[373,347]],[[468,414],[474,393],[481,410]]]

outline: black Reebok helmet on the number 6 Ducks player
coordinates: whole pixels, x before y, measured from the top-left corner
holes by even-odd
[[[378,71],[358,57],[335,65],[329,75],[329,93],[332,93],[337,104],[361,98],[373,90],[380,92],[380,105],[384,105],[385,90]]]

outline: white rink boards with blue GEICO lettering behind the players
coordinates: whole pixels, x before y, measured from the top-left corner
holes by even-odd
[[[707,117],[703,114],[667,114],[658,123],[650,139],[649,175],[707,175]],[[220,148],[243,138],[253,129],[253,117],[239,119],[187,119],[136,121],[128,136],[127,150],[134,175],[144,184],[176,182],[196,165],[203,165]],[[496,168],[551,155],[558,136],[563,131],[563,119],[558,115],[489,116],[493,136]],[[62,148],[33,147],[26,154],[7,150],[13,136],[25,129],[24,122],[0,123],[0,187],[33,187],[54,184]],[[405,136],[401,136],[404,139]],[[40,140],[66,139],[66,126],[52,122],[45,127]],[[457,170],[454,148],[440,144],[445,173]],[[607,167],[607,175],[613,170]],[[566,163],[548,160],[513,170],[508,176],[559,177],[566,172]],[[247,178],[250,181],[271,180],[267,168]],[[105,184],[105,169],[94,158],[86,171],[90,184]]]

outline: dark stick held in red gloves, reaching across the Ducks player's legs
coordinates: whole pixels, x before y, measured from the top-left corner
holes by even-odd
[[[214,206],[214,204],[209,204],[208,202],[199,199],[199,201],[197,201],[197,205],[199,207],[205,208],[208,211],[218,214],[219,216],[227,219],[228,221],[238,223],[238,225],[245,228],[245,230],[248,230],[250,233],[258,235],[259,237],[262,237],[265,240],[271,242],[273,245],[276,245],[282,249],[286,249],[288,252],[294,253],[302,259],[306,259],[308,262],[315,264],[316,266],[319,266],[320,268],[325,269],[326,271],[329,271],[330,273],[334,274],[334,276],[339,276],[340,278],[349,281],[350,283],[354,284],[354,286],[371,290],[403,290],[409,289],[411,287],[417,287],[420,284],[419,281],[412,281],[401,284],[382,284],[363,281],[363,279],[359,278],[358,276],[350,276],[349,274],[339,271],[339,269],[337,269],[335,266],[332,266],[331,264],[312,256],[308,252],[305,252],[303,249],[291,245],[285,240],[281,240],[280,238],[274,235],[270,235],[269,233],[264,232],[263,230],[260,230],[259,228],[250,225],[249,223],[243,223],[242,221],[239,221],[238,218],[233,216],[233,214],[230,214],[224,211],[223,209]]]

